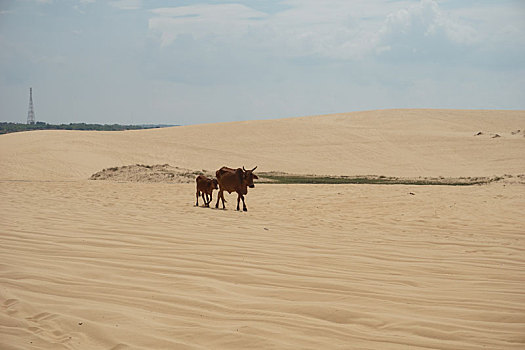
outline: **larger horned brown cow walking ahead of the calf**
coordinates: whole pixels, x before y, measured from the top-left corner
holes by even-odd
[[[240,210],[239,203],[242,199],[242,210],[248,211],[248,209],[246,209],[246,204],[244,203],[244,195],[248,193],[248,187],[255,187],[253,180],[258,179],[258,177],[253,173],[253,171],[256,168],[257,167],[253,168],[252,170],[246,170],[244,167],[242,167],[242,169],[232,169],[223,166],[217,170],[215,175],[219,181],[219,194],[215,208],[219,207],[219,199],[222,199],[222,208],[225,209],[223,192],[228,191],[228,193],[237,192],[237,210]]]

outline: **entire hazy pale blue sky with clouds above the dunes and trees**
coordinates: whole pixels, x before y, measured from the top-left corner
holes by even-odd
[[[0,121],[525,109],[523,0],[0,0]]]

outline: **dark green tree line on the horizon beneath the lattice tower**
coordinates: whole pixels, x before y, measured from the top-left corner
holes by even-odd
[[[148,124],[148,125],[121,125],[121,124],[86,124],[86,123],[70,123],[70,124],[48,124],[44,122],[36,122],[35,124],[22,124],[0,122],[0,134],[8,134],[11,132],[31,131],[31,130],[97,130],[97,131],[122,131],[122,130],[138,130],[138,129],[154,129],[164,128],[174,125],[163,124]]]

